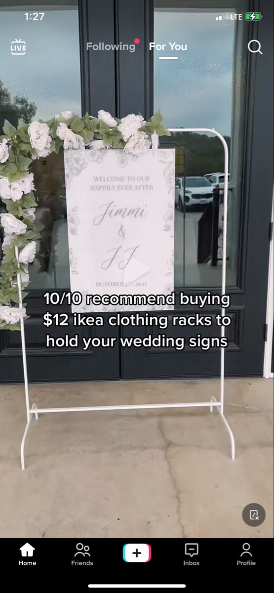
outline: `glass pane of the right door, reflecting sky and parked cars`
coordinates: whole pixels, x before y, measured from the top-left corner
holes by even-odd
[[[161,109],[168,127],[214,128],[227,141],[227,284],[232,286],[238,279],[248,28],[246,21],[225,16],[244,14],[248,2],[206,4],[155,0],[154,42],[165,47],[154,49],[154,110]],[[174,42],[187,49],[171,49]],[[159,59],[165,57],[177,59]],[[176,132],[164,143],[176,148],[176,178],[182,180],[175,199],[175,286],[220,286],[224,149],[216,136],[201,133]],[[216,186],[219,196],[213,199]]]

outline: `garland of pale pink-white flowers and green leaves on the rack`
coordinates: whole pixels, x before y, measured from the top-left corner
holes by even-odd
[[[158,147],[158,136],[170,135],[163,125],[160,111],[145,122],[141,115],[130,114],[122,119],[108,111],[98,111],[98,117],[88,113],[78,117],[62,111],[47,122],[30,125],[20,120],[14,127],[5,120],[4,135],[0,136],[0,196],[7,212],[0,215],[4,229],[0,265],[0,330],[20,330],[20,320],[26,317],[26,307],[19,306],[17,275],[20,273],[24,291],[29,282],[28,264],[36,254],[39,233],[35,225],[37,201],[34,196],[34,176],[28,171],[31,162],[64,149],[92,150],[123,149],[138,157],[149,148]],[[15,248],[18,248],[18,260]]]

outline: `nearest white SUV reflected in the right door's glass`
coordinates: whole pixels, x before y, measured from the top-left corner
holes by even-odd
[[[184,205],[206,205],[213,200],[214,187],[205,177],[186,177],[185,190],[184,178],[175,179],[175,206],[183,212]]]

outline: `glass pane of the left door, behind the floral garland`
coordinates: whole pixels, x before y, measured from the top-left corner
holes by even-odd
[[[30,123],[66,110],[81,115],[78,1],[0,0],[0,23],[1,129],[5,119],[17,125],[19,117]],[[25,55],[12,55],[16,39],[26,43]],[[34,161],[32,170],[42,231],[30,288],[69,288],[62,152]]]

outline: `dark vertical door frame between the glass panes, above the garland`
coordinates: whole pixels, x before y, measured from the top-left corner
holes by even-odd
[[[106,16],[107,15],[107,16]],[[79,0],[82,111],[99,109],[116,117],[153,111],[152,0]],[[87,42],[128,43],[138,37],[134,53],[87,51]]]

